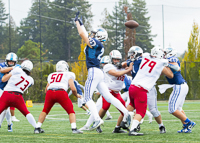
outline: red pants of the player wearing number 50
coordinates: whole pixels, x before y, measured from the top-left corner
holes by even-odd
[[[75,113],[67,92],[61,90],[47,91],[42,112],[48,114],[55,103],[59,103],[68,114]]]

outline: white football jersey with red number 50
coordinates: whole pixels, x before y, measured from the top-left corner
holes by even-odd
[[[64,89],[65,91],[69,88],[69,79],[75,80],[75,74],[73,72],[54,72],[51,73],[47,81],[50,84],[47,90],[49,89]]]

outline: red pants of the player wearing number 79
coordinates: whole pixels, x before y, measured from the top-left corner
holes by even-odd
[[[144,118],[147,110],[147,90],[142,87],[132,85],[129,87],[130,104],[136,109],[136,114]]]

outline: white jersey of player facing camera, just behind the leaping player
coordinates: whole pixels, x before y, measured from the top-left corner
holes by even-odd
[[[125,75],[122,75],[119,77],[110,75],[108,72],[112,69],[114,69],[115,71],[122,71],[125,69],[124,68],[117,69],[117,67],[113,64],[106,64],[103,67],[103,72],[104,72],[104,76],[105,76],[104,80],[105,80],[107,87],[110,90],[121,91],[123,88]]]

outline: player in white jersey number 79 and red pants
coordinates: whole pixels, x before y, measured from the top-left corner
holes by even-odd
[[[172,71],[166,67],[168,61],[163,59],[164,52],[158,47],[151,49],[151,54],[142,55],[139,70],[129,88],[130,104],[136,109],[129,136],[139,136],[137,126],[145,116],[147,109],[147,92],[150,91],[160,77],[161,73],[168,78],[173,78]]]

